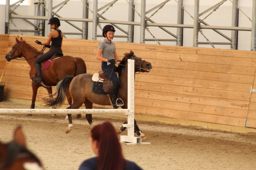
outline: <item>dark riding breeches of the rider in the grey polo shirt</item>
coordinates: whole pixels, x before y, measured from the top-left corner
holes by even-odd
[[[107,75],[107,77],[112,81],[113,84],[118,84],[119,80],[115,73],[117,66],[114,65],[113,67],[110,67],[110,65],[107,65],[107,62],[102,62],[101,69]]]

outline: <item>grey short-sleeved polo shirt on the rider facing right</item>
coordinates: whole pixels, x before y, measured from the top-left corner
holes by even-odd
[[[114,51],[116,50],[115,43],[112,41],[108,42],[108,40],[104,39],[100,44],[98,49],[103,49],[101,56],[105,59],[115,59]]]

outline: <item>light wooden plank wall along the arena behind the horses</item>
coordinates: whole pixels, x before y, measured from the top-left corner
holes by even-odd
[[[35,40],[45,37],[22,36],[41,49]],[[0,35],[0,71],[5,55],[15,37]],[[81,57],[88,73],[96,73],[101,64],[96,60],[100,41],[64,39],[63,53]],[[245,120],[256,128],[256,52],[226,49],[192,48],[115,42],[118,56],[133,50],[135,55],[152,63],[149,73],[135,76],[135,112],[175,119],[244,127]],[[2,82],[5,96],[31,99],[29,65],[25,61],[9,62]],[[55,89],[54,89],[55,90]],[[38,91],[37,100],[47,95]]]

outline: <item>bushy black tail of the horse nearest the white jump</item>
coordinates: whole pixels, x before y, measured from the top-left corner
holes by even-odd
[[[61,107],[66,99],[66,94],[69,93],[69,84],[74,76],[66,76],[56,85],[55,93],[50,98],[43,98],[45,106]],[[56,97],[55,97],[56,96]]]

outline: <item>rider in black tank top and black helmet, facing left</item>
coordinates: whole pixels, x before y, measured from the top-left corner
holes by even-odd
[[[48,38],[47,42],[42,43],[38,40],[36,40],[35,42],[40,44],[40,45],[46,45],[46,46],[50,46],[50,42],[52,42],[52,44],[50,46],[49,51],[42,54],[41,56],[38,56],[35,59],[34,63],[35,63],[37,78],[36,79],[31,78],[31,81],[33,81],[33,82],[38,82],[38,83],[42,82],[42,74],[41,74],[41,65],[40,65],[40,63],[49,59],[54,54],[62,53],[61,45],[62,45],[63,33],[59,29],[60,20],[57,17],[52,17],[49,20],[48,24],[50,24],[50,27],[51,27],[52,31],[49,33],[49,38]]]

